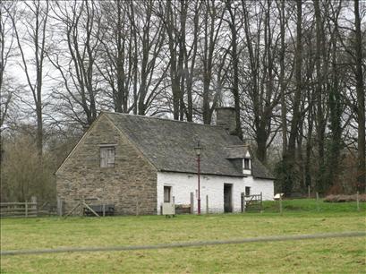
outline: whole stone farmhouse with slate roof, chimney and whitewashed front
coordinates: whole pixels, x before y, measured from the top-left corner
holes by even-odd
[[[234,108],[217,108],[217,125],[102,112],[55,173],[64,211],[81,199],[106,201],[115,214],[160,214],[163,202],[201,212],[238,212],[242,193],[272,200],[274,176],[233,133]],[[76,211],[75,214],[81,214]]]

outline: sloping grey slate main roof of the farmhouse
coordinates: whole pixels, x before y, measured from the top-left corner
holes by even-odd
[[[106,116],[141,150],[160,171],[197,173],[194,147],[200,140],[202,174],[243,176],[227,157],[225,148],[243,146],[237,136],[216,125],[194,124],[149,116],[105,112]],[[253,176],[273,178],[258,159],[253,158]]]

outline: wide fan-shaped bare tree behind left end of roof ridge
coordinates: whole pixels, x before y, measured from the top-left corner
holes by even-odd
[[[165,28],[157,20],[154,1],[113,1],[101,4],[104,35],[98,71],[106,81],[106,105],[116,112],[146,115],[166,77],[162,65]]]

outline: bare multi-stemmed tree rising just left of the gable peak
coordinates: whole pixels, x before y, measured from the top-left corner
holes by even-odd
[[[50,53],[49,60],[60,73],[60,84],[66,90],[66,93],[62,89],[54,90],[54,98],[64,102],[60,111],[65,116],[88,127],[97,118],[98,107],[98,7],[89,1],[56,2],[53,10],[64,36],[60,41],[61,48]]]

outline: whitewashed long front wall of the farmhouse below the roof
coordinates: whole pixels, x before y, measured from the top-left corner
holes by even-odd
[[[200,176],[200,209],[206,212],[206,195],[209,195],[209,210],[211,212],[224,211],[224,184],[233,184],[233,211],[240,212],[241,193],[245,186],[251,186],[251,193],[262,192],[265,200],[273,200],[273,181],[253,180],[252,176]],[[164,185],[172,187],[171,195],[175,204],[190,204],[191,193],[194,193],[194,210],[197,211],[197,175],[185,173],[158,172],[157,173],[157,214],[164,201]]]

